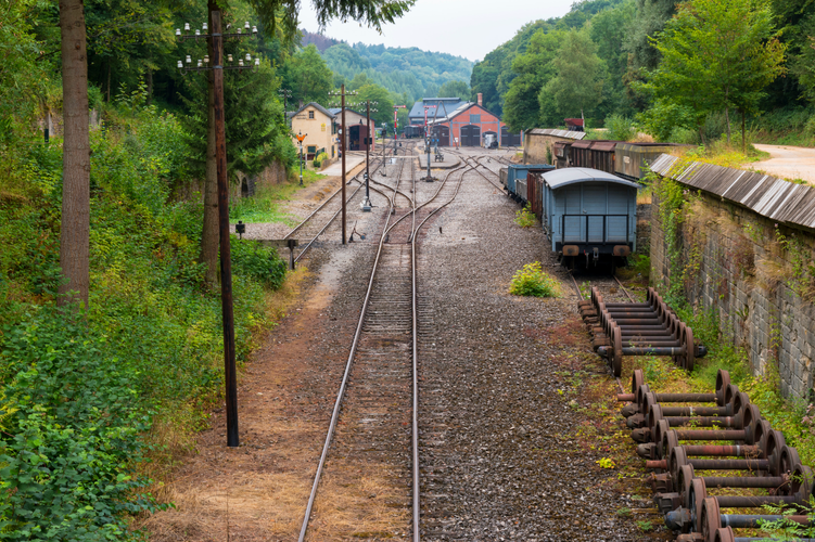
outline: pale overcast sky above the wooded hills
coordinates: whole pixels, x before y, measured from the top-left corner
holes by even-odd
[[[565,15],[573,1],[417,0],[407,15],[384,26],[382,35],[370,28],[360,28],[356,22],[343,24],[339,21],[329,24],[323,34],[349,43],[418,47],[480,61],[510,40],[526,23]],[[309,0],[302,3],[300,27],[317,31],[317,18]]]

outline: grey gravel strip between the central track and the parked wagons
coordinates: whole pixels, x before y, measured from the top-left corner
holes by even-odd
[[[576,442],[585,417],[561,395],[564,352],[533,340],[575,321],[575,297],[507,294],[524,263],[559,268],[540,229],[512,223],[515,204],[466,179],[420,245],[424,540],[641,540],[615,514],[629,503],[608,489],[614,473]]]

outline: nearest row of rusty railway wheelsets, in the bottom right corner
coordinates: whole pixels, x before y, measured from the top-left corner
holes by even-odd
[[[801,464],[784,435],[761,418],[747,393],[730,384],[727,371],[718,371],[710,393],[654,393],[636,370],[632,393],[617,400],[631,402],[622,413],[639,442],[637,453],[654,470],[653,500],[667,527],[679,533],[677,541],[772,540],[736,538],[733,529],[759,529],[762,520],[781,517],[815,525],[806,516],[721,512],[767,504],[794,509],[807,504],[813,491],[810,467]],[[709,476],[716,470],[726,476]],[[709,495],[709,490],[716,494]]]

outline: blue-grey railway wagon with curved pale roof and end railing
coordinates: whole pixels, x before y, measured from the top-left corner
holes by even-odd
[[[639,184],[589,168],[540,175],[542,222],[552,250],[563,256],[628,256],[637,243]]]

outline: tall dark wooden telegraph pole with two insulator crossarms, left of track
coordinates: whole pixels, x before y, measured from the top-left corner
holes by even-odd
[[[208,30],[207,23],[203,25],[203,31],[190,31],[190,24],[184,23],[184,34],[180,28],[176,28],[176,36],[182,40],[203,38],[212,40],[213,59],[209,65],[209,55],[204,55],[203,60],[196,62],[192,67],[192,57],[187,55],[186,62],[178,61],[178,68],[182,72],[208,72],[213,70],[213,90],[215,101],[213,104],[215,117],[215,163],[218,178],[218,231],[220,237],[220,301],[224,317],[224,380],[226,386],[226,410],[227,410],[227,446],[234,448],[240,446],[238,437],[238,380],[234,364],[234,313],[232,308],[232,260],[229,247],[229,184],[227,182],[227,138],[224,119],[224,70],[252,69],[260,65],[260,59],[255,57],[252,63],[252,55],[246,53],[244,59],[238,60],[238,65],[224,65],[224,39],[225,38],[245,38],[257,36],[257,27],[251,26],[249,21],[244,25],[245,34],[239,26],[235,33],[221,33],[221,14],[220,10],[213,10],[209,13],[212,18],[212,33]],[[232,63],[232,55],[227,56],[227,61]],[[186,64],[186,66],[184,66]]]

